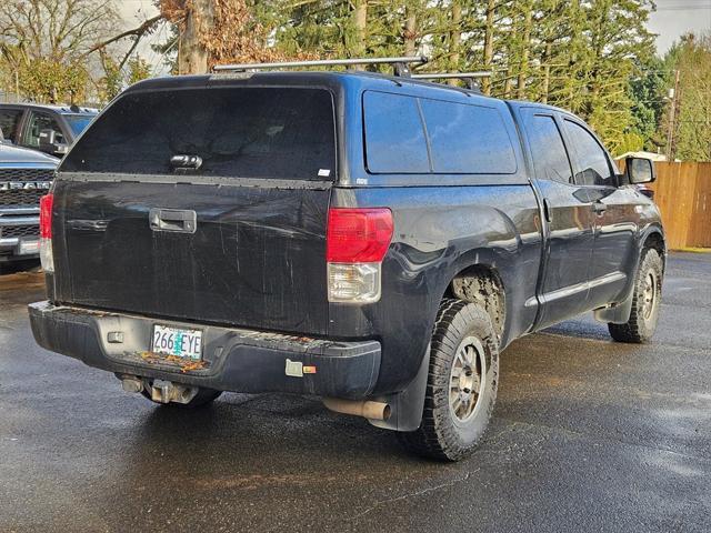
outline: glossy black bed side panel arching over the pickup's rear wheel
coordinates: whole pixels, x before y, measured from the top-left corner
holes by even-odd
[[[504,286],[510,320],[501,345],[530,328],[542,239],[530,185],[334,188],[332,193],[331,207],[388,207],[393,214],[381,300],[329,306],[330,338],[378,339],[383,346],[373,396],[410,385],[442,298],[454,276],[472,265],[497,271]]]

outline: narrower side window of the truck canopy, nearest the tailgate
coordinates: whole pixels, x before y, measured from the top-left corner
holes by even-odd
[[[365,159],[374,173],[427,173],[430,162],[414,98],[368,91],[363,95]]]

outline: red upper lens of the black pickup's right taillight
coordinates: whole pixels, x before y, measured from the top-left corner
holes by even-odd
[[[392,213],[387,208],[330,209],[326,260],[330,263],[375,263],[392,239]]]

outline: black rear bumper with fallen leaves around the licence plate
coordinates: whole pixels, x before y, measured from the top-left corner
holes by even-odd
[[[81,308],[29,305],[32,333],[47,350],[117,374],[139,375],[233,392],[291,392],[361,399],[373,390],[380,369],[378,341],[340,342],[253,330],[198,325]],[[153,324],[199,329],[203,366],[183,370],[149,355]],[[116,335],[121,332],[121,335]],[[109,333],[114,333],[109,342]],[[122,336],[122,342],[116,342]],[[287,375],[314,366],[316,373]],[[298,371],[296,372],[299,373]]]

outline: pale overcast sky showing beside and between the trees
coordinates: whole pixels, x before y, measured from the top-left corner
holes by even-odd
[[[157,13],[152,0],[121,0],[118,2],[127,28],[138,26]],[[658,33],[657,50],[664,53],[674,40],[688,31],[711,31],[711,0],[657,0],[657,11],[650,16],[649,28]],[[164,30],[147,39],[140,53],[164,73],[161,58],[150,49],[150,42],[164,39]]]

